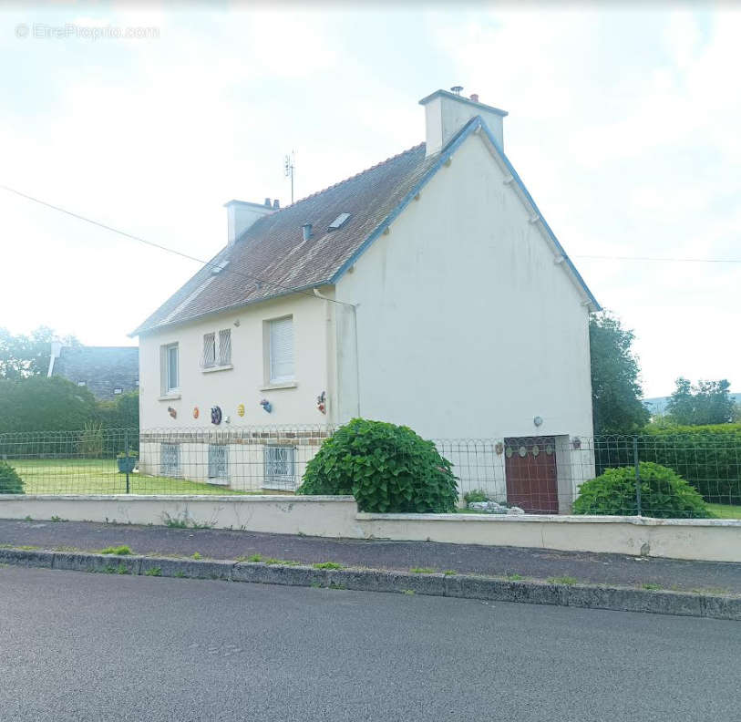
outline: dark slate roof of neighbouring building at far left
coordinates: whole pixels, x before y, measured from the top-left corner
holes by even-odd
[[[100,399],[116,398],[139,388],[139,347],[52,346],[48,376],[63,376]]]

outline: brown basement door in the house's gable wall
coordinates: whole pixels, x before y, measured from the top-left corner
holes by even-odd
[[[509,503],[530,513],[558,513],[555,438],[505,438],[504,454]]]

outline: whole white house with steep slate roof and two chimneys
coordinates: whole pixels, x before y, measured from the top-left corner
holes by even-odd
[[[362,416],[448,439],[463,490],[568,510],[599,305],[504,153],[507,113],[420,104],[416,147],[287,208],[226,204],[225,248],[134,332],[143,470],[293,488]]]

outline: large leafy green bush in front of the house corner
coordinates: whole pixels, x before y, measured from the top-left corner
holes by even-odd
[[[455,511],[457,479],[432,441],[411,428],[354,418],[327,438],[299,494],[352,494],[360,511]]]

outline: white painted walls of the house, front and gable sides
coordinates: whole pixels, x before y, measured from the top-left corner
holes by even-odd
[[[476,114],[468,102],[451,102],[427,103],[428,134],[438,132],[438,116],[449,134],[454,119],[462,125]],[[499,142],[501,116],[492,118]],[[481,486],[499,498],[506,481],[497,442],[555,437],[560,509],[569,510],[593,473],[592,453],[573,443],[592,436],[591,302],[486,133],[469,135],[388,232],[334,286],[317,291],[143,335],[142,431],[213,428],[216,405],[221,429],[382,419],[426,438],[486,439],[498,471],[479,478],[455,450],[448,458],[468,467],[464,489]],[[293,316],[295,382],[271,387],[264,325],[285,315]],[[232,331],[232,368],[204,371],[203,335],[223,328]],[[161,347],[171,343],[180,348],[180,389],[163,395]],[[316,403],[323,391],[325,414]],[[155,457],[149,454],[152,471]],[[202,479],[200,470],[189,477]]]

